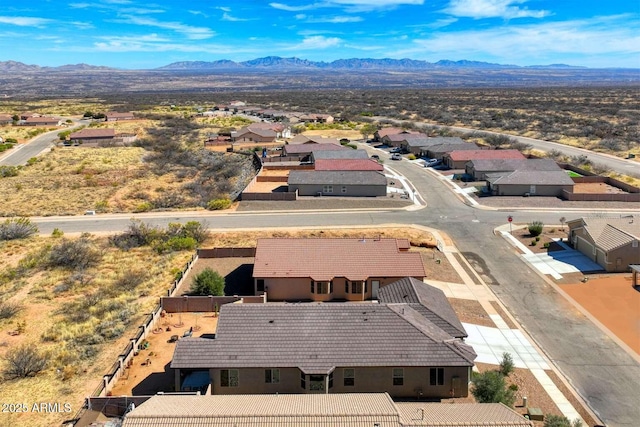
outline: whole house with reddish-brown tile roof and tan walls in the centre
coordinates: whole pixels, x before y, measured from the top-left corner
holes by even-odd
[[[383,286],[426,276],[410,247],[406,239],[258,239],[255,294],[266,292],[270,301],[377,299]]]

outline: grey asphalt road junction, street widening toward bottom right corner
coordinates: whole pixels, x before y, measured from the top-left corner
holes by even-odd
[[[385,157],[382,155],[381,157]],[[41,232],[115,232],[135,217],[156,225],[206,220],[214,229],[378,226],[419,224],[448,233],[547,356],[570,379],[598,416],[610,426],[636,426],[640,419],[640,364],[524,263],[496,226],[513,214],[516,222],[558,224],[582,212],[526,212],[472,208],[447,185],[407,161],[387,162],[405,175],[428,203],[416,211],[151,213],[34,218]],[[533,199],[532,199],[533,200]],[[533,404],[533,402],[532,402]]]

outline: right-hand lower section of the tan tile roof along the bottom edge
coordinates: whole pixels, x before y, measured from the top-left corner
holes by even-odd
[[[396,402],[404,427],[533,427],[533,423],[502,403]]]

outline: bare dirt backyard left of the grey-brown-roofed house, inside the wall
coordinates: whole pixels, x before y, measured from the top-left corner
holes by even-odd
[[[213,313],[174,313],[161,319],[158,325],[161,329],[147,337],[149,347],[134,356],[111,395],[142,396],[174,391],[174,374],[169,364],[176,344],[169,342],[171,336],[182,337],[189,328],[193,328],[194,337],[215,334],[218,318]]]

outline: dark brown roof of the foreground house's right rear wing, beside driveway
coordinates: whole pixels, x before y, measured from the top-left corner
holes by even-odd
[[[444,292],[413,277],[405,277],[380,288],[378,301],[408,304],[423,317],[455,338],[468,336]]]

